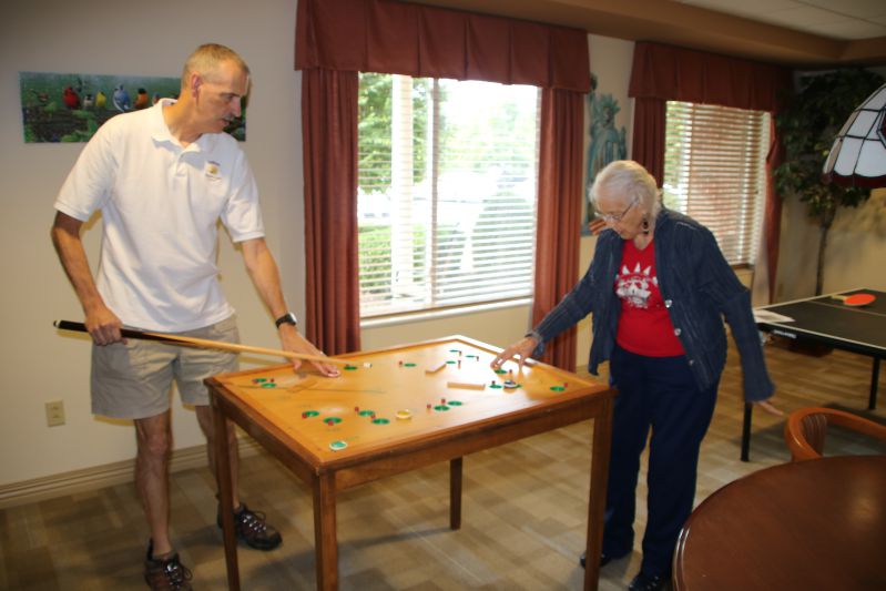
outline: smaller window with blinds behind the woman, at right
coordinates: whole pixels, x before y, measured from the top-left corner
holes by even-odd
[[[756,259],[768,118],[764,111],[668,102],[664,204],[710,228],[732,265]]]

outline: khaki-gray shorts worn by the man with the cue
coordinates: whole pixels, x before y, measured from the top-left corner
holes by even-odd
[[[180,336],[240,343],[234,316]],[[182,401],[210,404],[203,379],[237,370],[237,354],[130,338],[124,345],[92,345],[92,411],[105,417],[142,419],[170,408],[172,380]]]

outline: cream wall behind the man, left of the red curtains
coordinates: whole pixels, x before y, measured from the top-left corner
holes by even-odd
[[[52,320],[82,319],[52,249],[55,194],[83,144],[24,144],[18,72],[179,77],[200,43],[238,51],[253,72],[244,143],[262,192],[267,238],[284,288],[304,313],[301,74],[293,70],[296,2],[11,0],[0,18],[0,220],[3,339],[0,359],[0,486],[134,456],[133,429],[94,418],[89,407],[90,346],[57,333]],[[85,234],[93,264],[101,227]],[[226,235],[223,285],[243,340],[277,346],[273,324]],[[43,405],[61,399],[67,425],[47,427]],[[202,442],[193,412],[175,404],[176,448]]]

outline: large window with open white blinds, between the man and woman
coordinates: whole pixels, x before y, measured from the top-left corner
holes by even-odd
[[[360,316],[532,293],[539,91],[360,74]]]

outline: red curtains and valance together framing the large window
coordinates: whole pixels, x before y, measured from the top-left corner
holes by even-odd
[[[546,214],[538,232],[539,243],[548,242],[541,236],[558,236],[560,241],[561,227],[568,228],[563,234],[574,237],[563,236],[562,244],[546,254],[546,262],[536,265],[536,285],[543,286],[547,308],[537,303],[533,317],[550,309],[574,284],[582,197],[581,96],[591,85],[584,31],[390,0],[299,0],[295,67],[305,72],[302,116],[306,130],[307,319],[309,326],[332,325],[317,330],[324,339],[328,335],[328,342],[317,343],[324,350],[340,353],[359,346],[356,255],[350,267],[357,235],[357,121],[346,115],[350,104],[356,104],[357,88],[356,83],[345,84],[344,78],[319,72],[486,80],[561,91],[557,98],[542,99],[547,105],[542,144],[548,145],[542,145],[540,156],[539,210],[550,210],[551,214]],[[308,124],[313,128],[310,137]],[[343,171],[354,175],[353,184],[349,177],[347,182],[338,179]],[[345,198],[339,191],[350,194]],[[342,211],[350,216],[347,224],[337,224],[336,207],[346,207]],[[339,258],[343,252],[347,253],[345,261]],[[338,266],[347,268],[329,271]],[[548,294],[552,287],[557,293]],[[564,340],[562,347],[571,347],[571,354],[557,353],[561,346],[554,345],[552,355],[563,359],[561,367],[573,369],[574,338],[571,345],[569,338]]]

